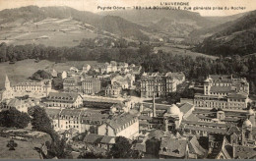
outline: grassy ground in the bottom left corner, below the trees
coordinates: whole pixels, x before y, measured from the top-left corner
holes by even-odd
[[[33,142],[15,140],[18,143],[18,146],[14,151],[10,151],[6,147],[10,138],[0,137],[0,158],[1,159],[40,159],[37,151],[33,150],[33,147],[38,147],[38,144]]]

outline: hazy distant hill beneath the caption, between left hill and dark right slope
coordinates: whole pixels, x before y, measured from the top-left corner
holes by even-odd
[[[149,27],[170,37],[189,38],[207,32],[240,18],[243,14],[226,17],[202,17],[198,13],[183,10],[124,10],[99,13],[101,16],[118,16],[143,27]],[[207,31],[206,31],[207,30]],[[203,33],[201,33],[203,32]],[[190,34],[192,33],[192,36]],[[162,35],[160,35],[162,37]],[[201,40],[204,36],[199,37]],[[196,38],[197,40],[198,38]],[[193,38],[191,40],[195,41]]]

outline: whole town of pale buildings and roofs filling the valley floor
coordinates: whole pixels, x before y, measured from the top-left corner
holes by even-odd
[[[118,151],[117,144],[127,144],[123,154],[127,158],[255,157],[255,107],[245,78],[209,75],[195,83],[182,72],[142,73],[141,69],[115,61],[85,64],[61,73],[40,71],[41,80],[16,84],[7,75],[1,91],[1,119],[4,114],[28,114],[32,128],[28,119],[20,119],[24,126],[2,129],[0,136],[11,137],[13,145],[32,139],[25,132],[55,134],[73,158],[118,158],[123,151]],[[50,77],[45,79],[42,73]],[[55,78],[62,80],[61,89],[53,88]],[[189,89],[195,90],[192,98],[172,104],[163,101],[170,93]],[[41,158],[51,158],[46,142],[37,148]]]

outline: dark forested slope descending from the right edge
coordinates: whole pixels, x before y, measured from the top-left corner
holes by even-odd
[[[256,11],[219,28],[218,32],[205,38],[196,51],[218,56],[243,56],[256,52]]]

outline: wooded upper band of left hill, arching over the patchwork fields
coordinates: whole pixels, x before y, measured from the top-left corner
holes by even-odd
[[[22,26],[25,23],[36,23],[47,18],[70,19],[89,24],[108,31],[117,36],[135,37],[139,40],[147,40],[148,36],[141,30],[148,30],[137,24],[126,21],[120,17],[99,16],[97,14],[85,11],[78,11],[70,7],[37,7],[28,6],[18,9],[7,9],[0,11],[0,27],[2,29],[9,27]]]

